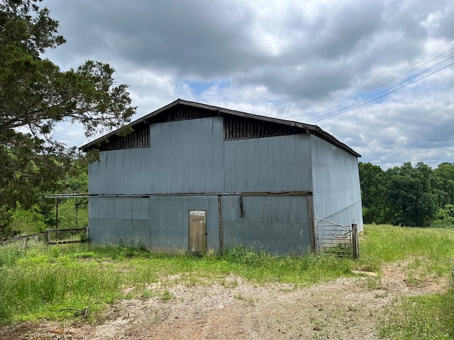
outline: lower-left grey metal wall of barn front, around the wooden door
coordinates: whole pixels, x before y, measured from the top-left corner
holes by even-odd
[[[184,253],[189,246],[189,210],[206,211],[207,249],[217,251],[218,196],[91,198],[89,238],[96,244]]]

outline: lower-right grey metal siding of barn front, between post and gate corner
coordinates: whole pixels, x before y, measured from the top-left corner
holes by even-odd
[[[304,254],[311,246],[307,196],[224,196],[223,242],[275,254]]]

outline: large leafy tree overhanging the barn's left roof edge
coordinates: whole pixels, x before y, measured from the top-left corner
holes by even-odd
[[[135,107],[109,64],[87,61],[63,72],[43,53],[65,43],[40,0],[0,2],[0,236],[16,203],[31,207],[57,187],[75,147],[55,140],[60,122],[87,137],[119,128]]]

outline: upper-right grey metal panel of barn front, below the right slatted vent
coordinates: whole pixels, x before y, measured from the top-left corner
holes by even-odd
[[[226,191],[311,191],[310,156],[309,135],[226,141]]]

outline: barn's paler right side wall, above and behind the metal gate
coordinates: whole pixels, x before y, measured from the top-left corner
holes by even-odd
[[[358,158],[316,136],[311,151],[315,216],[362,230]]]

